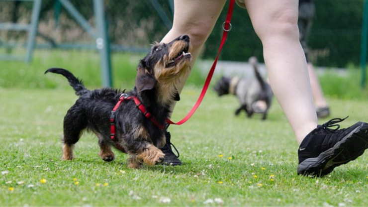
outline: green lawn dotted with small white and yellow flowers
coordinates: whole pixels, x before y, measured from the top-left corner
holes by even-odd
[[[63,117],[77,99],[63,81],[0,88],[0,206],[368,206],[368,153],[324,178],[297,176],[298,145],[278,103],[266,121],[235,117],[236,98],[212,90],[188,122],[169,128],[182,166],[132,170],[117,151],[104,162],[91,134],[75,160],[61,161]],[[173,121],[199,93],[184,89]],[[368,121],[366,100],[328,101],[331,118],[350,116],[342,127]]]

